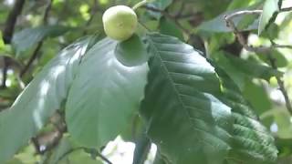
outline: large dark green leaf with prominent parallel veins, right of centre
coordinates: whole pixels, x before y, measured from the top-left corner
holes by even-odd
[[[212,67],[192,46],[172,36],[148,36],[150,74],[141,102],[147,134],[169,162],[223,161],[229,149],[230,108]]]

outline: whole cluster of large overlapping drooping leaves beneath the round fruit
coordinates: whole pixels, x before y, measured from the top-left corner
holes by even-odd
[[[0,161],[26,145],[64,101],[68,133],[87,148],[117,137],[140,108],[147,138],[169,163],[276,160],[274,138],[235,83],[192,46],[161,34],[89,43],[90,37],[61,51],[0,114]]]

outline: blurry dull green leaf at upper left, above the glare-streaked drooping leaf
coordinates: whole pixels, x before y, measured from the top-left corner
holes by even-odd
[[[61,36],[70,29],[72,28],[68,26],[38,26],[17,32],[12,39],[12,45],[16,49],[16,57],[46,37]]]

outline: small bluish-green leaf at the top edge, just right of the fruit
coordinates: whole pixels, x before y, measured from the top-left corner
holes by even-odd
[[[165,10],[169,5],[172,5],[172,0],[155,0],[154,2],[147,4],[153,8],[157,8],[159,10]],[[149,15],[153,16],[156,19],[160,19],[162,14],[160,12],[153,12],[148,10]]]

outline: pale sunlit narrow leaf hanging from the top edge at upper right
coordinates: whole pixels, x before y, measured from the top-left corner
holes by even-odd
[[[258,26],[258,35],[261,35],[262,32],[269,26],[272,22],[275,21],[276,15],[280,11],[282,5],[282,0],[266,0],[263,13],[259,20]]]

